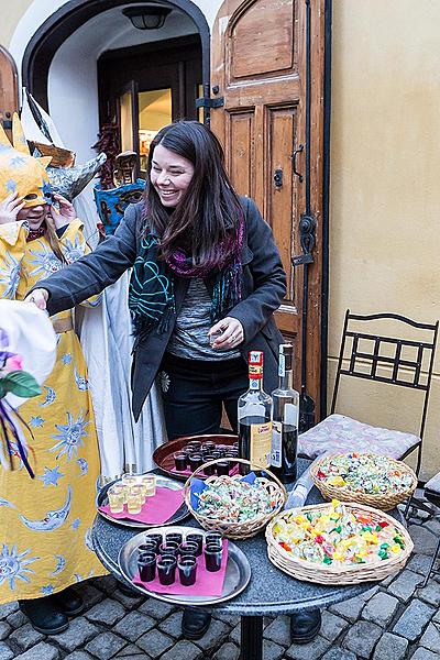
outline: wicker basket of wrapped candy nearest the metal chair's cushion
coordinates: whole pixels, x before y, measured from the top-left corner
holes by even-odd
[[[328,499],[358,502],[385,512],[404,502],[417,486],[409,465],[375,453],[326,454],[314,463],[310,475]]]

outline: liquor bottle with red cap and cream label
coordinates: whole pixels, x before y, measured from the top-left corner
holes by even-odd
[[[238,403],[239,453],[258,468],[271,464],[272,398],[263,389],[263,351],[249,353],[249,389]],[[242,473],[249,470],[241,466]]]

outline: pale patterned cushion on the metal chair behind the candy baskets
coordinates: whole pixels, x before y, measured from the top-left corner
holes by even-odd
[[[420,442],[418,436],[373,427],[344,415],[330,415],[301,433],[298,452],[316,459],[326,451],[364,451],[399,459]]]

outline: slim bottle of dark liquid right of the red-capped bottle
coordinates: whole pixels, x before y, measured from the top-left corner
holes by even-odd
[[[278,388],[272,393],[271,470],[283,483],[297,479],[299,394],[293,388],[294,346],[279,345]]]

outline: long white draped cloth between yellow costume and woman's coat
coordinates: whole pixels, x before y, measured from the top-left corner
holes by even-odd
[[[103,480],[128,469],[153,468],[156,447],[166,441],[162,400],[156,386],[136,424],[131,409],[131,322],[128,308],[130,274],[109,286],[102,304],[81,308],[80,341],[88,367]]]

